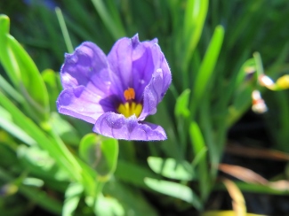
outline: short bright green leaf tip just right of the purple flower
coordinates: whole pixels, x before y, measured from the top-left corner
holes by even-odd
[[[174,115],[176,118],[180,116],[184,118],[189,117],[189,94],[190,89],[185,89],[177,98],[177,102],[174,107]]]

